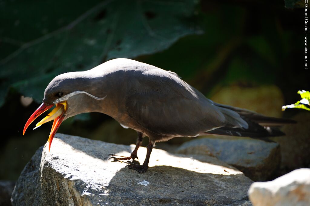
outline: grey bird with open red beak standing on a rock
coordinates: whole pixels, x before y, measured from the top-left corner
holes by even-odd
[[[30,116],[24,132],[47,109],[56,105],[36,128],[54,120],[52,139],[65,119],[86,112],[101,112],[123,127],[138,132],[128,167],[143,173],[156,142],[174,137],[196,137],[206,133],[230,136],[268,137],[283,135],[271,126],[293,123],[222,105],[207,99],[177,74],[130,59],[114,59],[93,69],[55,77],[44,92],[42,105]],[[23,132],[23,134],[24,134]],[[149,138],[142,165],[135,161],[143,137]]]

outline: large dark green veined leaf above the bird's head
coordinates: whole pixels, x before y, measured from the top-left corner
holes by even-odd
[[[0,106],[8,87],[41,101],[58,74],[168,48],[198,33],[198,1],[6,1],[0,4]]]

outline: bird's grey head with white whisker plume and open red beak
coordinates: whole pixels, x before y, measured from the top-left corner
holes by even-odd
[[[88,78],[82,75],[81,72],[70,72],[55,77],[45,89],[43,103],[33,112],[26,122],[23,135],[28,126],[38,118],[38,116],[51,107],[56,106],[46,117],[36,124],[35,128],[33,128],[36,129],[42,124],[54,120],[48,138],[48,148],[50,150],[52,140],[62,121],[76,114],[90,112],[87,110],[87,107],[85,107],[87,103],[83,101],[86,97],[97,100],[105,98],[98,98],[91,95],[88,92],[91,90],[89,88],[91,88],[91,84],[89,84]]]

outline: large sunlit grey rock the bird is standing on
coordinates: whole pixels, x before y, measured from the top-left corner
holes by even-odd
[[[109,153],[129,155],[134,145],[116,145],[57,134],[38,149],[12,193],[13,205],[250,205],[252,181],[214,157],[153,149],[140,174]],[[141,147],[138,157],[144,159]],[[41,158],[42,157],[42,158]]]

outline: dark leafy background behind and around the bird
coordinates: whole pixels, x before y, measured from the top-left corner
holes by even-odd
[[[52,123],[22,130],[51,79],[117,57],[174,71],[219,103],[276,117],[301,112],[281,111],[309,90],[303,4],[294,2],[1,1],[0,179],[16,180],[46,143]],[[34,101],[23,106],[21,95]],[[126,145],[136,139],[99,113],[70,118],[58,132]]]

